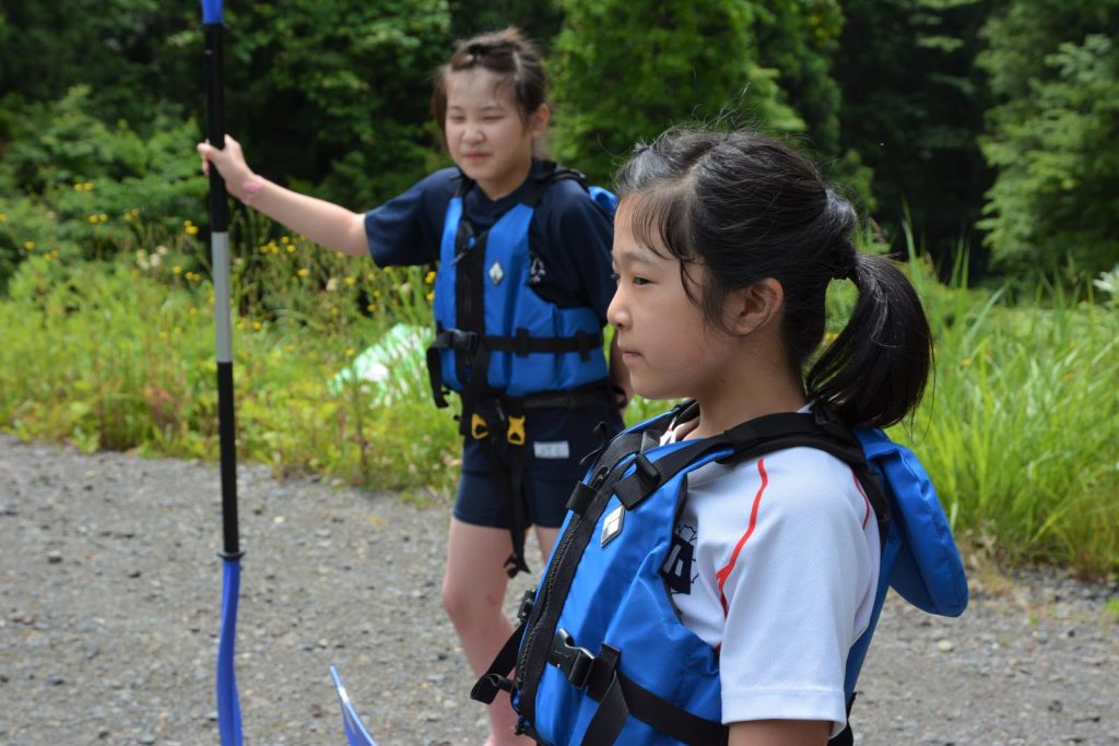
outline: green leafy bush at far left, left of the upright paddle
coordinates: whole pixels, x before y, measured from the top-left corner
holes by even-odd
[[[0,287],[30,251],[66,263],[103,258],[156,234],[190,230],[205,216],[192,122],[163,121],[145,139],[123,122],[106,126],[88,105],[90,89],[76,87],[60,101],[25,106],[9,123]]]

